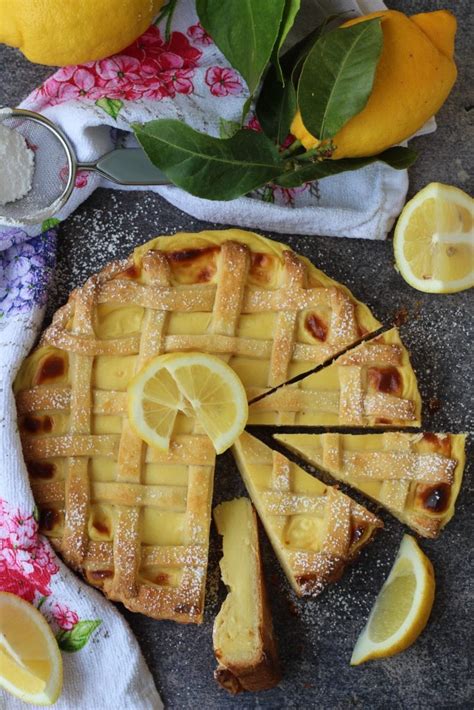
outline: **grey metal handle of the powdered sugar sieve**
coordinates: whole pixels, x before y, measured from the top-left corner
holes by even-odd
[[[141,148],[117,148],[94,163],[79,163],[77,167],[93,170],[119,185],[171,185]]]

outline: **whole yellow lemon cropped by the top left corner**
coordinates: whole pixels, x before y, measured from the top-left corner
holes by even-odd
[[[164,1],[0,0],[0,42],[38,64],[83,64],[125,49]]]

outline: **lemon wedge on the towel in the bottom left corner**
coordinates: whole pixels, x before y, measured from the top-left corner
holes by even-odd
[[[62,684],[61,652],[44,616],[0,592],[0,687],[26,703],[52,705]]]

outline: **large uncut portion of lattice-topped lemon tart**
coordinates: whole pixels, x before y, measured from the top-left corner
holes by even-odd
[[[214,452],[184,415],[168,453],[141,441],[130,379],[150,357],[199,350],[251,397],[378,326],[307,260],[241,230],[158,237],[109,264],[57,311],[15,383],[41,530],[110,598],[200,621]]]

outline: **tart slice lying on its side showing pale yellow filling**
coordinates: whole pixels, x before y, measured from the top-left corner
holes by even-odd
[[[215,618],[214,677],[226,690],[267,690],[281,678],[260,560],[257,517],[248,498],[214,509],[223,536],[222,581],[229,590]]]

